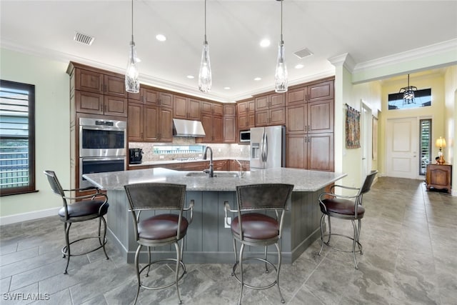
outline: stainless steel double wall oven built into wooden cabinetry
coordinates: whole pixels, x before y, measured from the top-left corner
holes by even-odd
[[[127,159],[127,122],[79,119],[79,187],[90,186],[83,174],[124,171]]]

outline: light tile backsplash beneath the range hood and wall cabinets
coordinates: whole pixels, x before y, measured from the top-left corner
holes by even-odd
[[[129,142],[129,148],[131,149],[143,149],[143,161],[164,161],[173,160],[176,158],[193,158],[201,157],[203,153],[181,153],[181,154],[154,154],[154,146],[170,146],[170,145],[182,145],[182,146],[210,146],[213,149],[214,158],[249,158],[249,145],[238,145],[238,144],[204,144],[195,143],[194,138],[174,136],[173,143],[146,143],[146,142]]]

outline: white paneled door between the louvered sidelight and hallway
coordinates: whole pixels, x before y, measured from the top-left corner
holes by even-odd
[[[388,119],[386,127],[387,176],[417,179],[417,119]]]

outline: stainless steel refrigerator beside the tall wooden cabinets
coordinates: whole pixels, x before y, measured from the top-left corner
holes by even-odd
[[[251,171],[286,166],[286,127],[251,128]]]

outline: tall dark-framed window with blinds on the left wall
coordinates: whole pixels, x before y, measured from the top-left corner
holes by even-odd
[[[0,195],[35,191],[35,86],[0,80]]]

